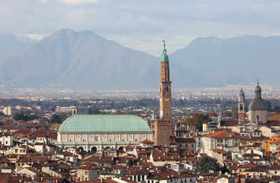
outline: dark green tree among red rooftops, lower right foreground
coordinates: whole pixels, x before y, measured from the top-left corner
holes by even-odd
[[[209,173],[210,170],[218,171],[220,167],[217,161],[210,156],[202,156],[200,163],[197,164],[197,171],[200,173]]]

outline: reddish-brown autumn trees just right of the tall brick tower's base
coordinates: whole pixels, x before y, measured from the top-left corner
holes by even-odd
[[[202,131],[202,124],[210,122],[209,116],[202,113],[196,113],[193,117],[187,117],[185,121],[180,122],[183,125],[195,125],[199,131]]]

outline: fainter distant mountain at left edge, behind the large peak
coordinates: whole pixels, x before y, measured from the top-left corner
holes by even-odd
[[[18,47],[20,45],[27,45],[35,42],[35,40],[22,36],[15,36],[11,34],[0,35],[0,52],[4,52],[6,50]]]

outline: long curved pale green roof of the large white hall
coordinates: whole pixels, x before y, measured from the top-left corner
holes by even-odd
[[[151,129],[144,119],[134,115],[75,115],[59,128],[59,133],[137,131],[151,132]]]

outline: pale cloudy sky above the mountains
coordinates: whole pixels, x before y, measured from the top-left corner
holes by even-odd
[[[41,39],[62,28],[90,30],[159,56],[197,37],[280,36],[280,1],[1,0],[0,34]]]

